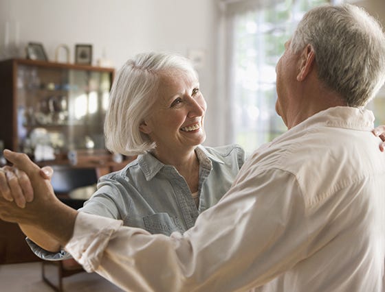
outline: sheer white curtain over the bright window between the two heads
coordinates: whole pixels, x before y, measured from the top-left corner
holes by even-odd
[[[218,0],[217,144],[238,143],[251,152],[285,132],[275,113],[275,64],[303,14],[325,2]]]

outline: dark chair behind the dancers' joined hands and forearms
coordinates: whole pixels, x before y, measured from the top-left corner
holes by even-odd
[[[83,206],[87,197],[74,199],[71,196],[75,190],[85,186],[95,186],[98,181],[98,175],[94,168],[74,168],[69,166],[53,166],[54,175],[52,176],[52,186],[59,199],[68,206],[78,209]],[[79,192],[77,192],[79,193]],[[47,276],[47,269],[50,267],[57,269],[56,284]],[[63,278],[72,276],[75,273],[84,271],[83,267],[79,265],[76,260],[70,258],[68,260],[43,260],[41,265],[41,275],[43,281],[46,282],[55,291],[63,291]]]

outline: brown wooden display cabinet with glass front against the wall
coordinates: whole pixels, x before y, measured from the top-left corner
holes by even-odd
[[[122,168],[104,148],[114,69],[24,59],[0,62],[0,140],[39,165]],[[71,154],[69,156],[69,154]],[[68,159],[68,158],[71,159]],[[17,224],[0,221],[0,264],[38,260]]]

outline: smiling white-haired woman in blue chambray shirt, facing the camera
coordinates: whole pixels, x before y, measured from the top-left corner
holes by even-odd
[[[205,113],[197,73],[186,58],[143,53],[128,60],[111,89],[104,133],[109,150],[138,156],[100,178],[98,190],[80,211],[121,219],[154,234],[194,226],[199,213],[228,191],[245,159],[237,145],[201,146]],[[2,178],[3,195],[20,198],[29,183],[23,178],[22,188],[11,187],[10,192],[3,191]],[[50,236],[30,226],[21,229],[36,254],[63,258]]]

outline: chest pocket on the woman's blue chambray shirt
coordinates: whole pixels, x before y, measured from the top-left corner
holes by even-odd
[[[167,213],[157,213],[143,217],[144,229],[152,234],[169,236],[174,231],[184,232],[178,217],[171,217]]]

